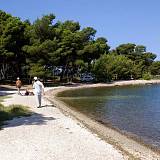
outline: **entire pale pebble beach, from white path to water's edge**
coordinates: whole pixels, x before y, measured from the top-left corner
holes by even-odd
[[[113,141],[107,140],[103,137],[102,132],[104,131],[100,129],[99,134],[96,129],[92,129],[97,124],[92,123],[90,125],[88,123],[90,120],[87,120],[86,117],[83,118],[87,123],[83,123],[81,119],[76,118],[79,114],[74,115],[73,113],[70,114],[70,110],[65,111],[63,109],[64,104],[56,98],[58,92],[66,89],[146,83],[160,83],[160,81],[121,81],[112,84],[82,84],[72,87],[45,88],[46,94],[42,100],[42,108],[35,107],[34,96],[11,94],[3,102],[5,106],[10,104],[29,106],[33,114],[30,117],[15,118],[8,121],[7,125],[0,130],[0,159],[159,160],[160,155],[158,153],[133,140],[127,142],[128,146],[125,147],[118,141],[114,143],[114,138]],[[119,136],[120,141],[128,140],[126,136],[117,134],[116,131],[105,130],[105,132],[108,132],[110,137],[112,137],[111,134]],[[127,147],[128,149],[126,149]],[[130,149],[132,147],[133,150]]]

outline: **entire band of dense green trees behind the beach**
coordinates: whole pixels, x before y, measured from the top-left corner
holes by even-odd
[[[55,21],[45,15],[33,24],[0,11],[0,80],[53,78],[56,67],[60,79],[92,72],[97,81],[138,79],[160,74],[160,62],[146,47],[122,44],[110,50],[96,30],[82,28],[78,22]]]

